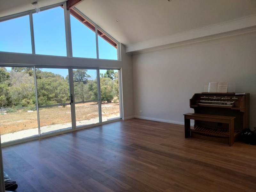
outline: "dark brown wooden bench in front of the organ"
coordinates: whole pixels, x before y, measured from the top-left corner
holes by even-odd
[[[196,113],[186,113],[184,114],[185,120],[185,138],[191,137],[191,133],[194,132],[199,135],[206,135],[207,137],[215,137],[215,138],[223,138],[224,141],[227,141],[229,146],[233,145],[235,141],[235,132],[234,132],[234,120],[236,117],[232,116],[219,116],[219,115],[206,115],[206,114],[196,114]],[[198,120],[198,121],[209,121],[209,122],[217,122],[217,123],[225,123],[229,125],[229,131],[216,131],[211,128],[204,128],[202,130],[198,129],[190,129],[190,119]],[[239,132],[236,132],[236,135]],[[203,138],[203,137],[201,137]],[[218,140],[214,140],[219,142]],[[225,143],[225,142],[224,142]]]

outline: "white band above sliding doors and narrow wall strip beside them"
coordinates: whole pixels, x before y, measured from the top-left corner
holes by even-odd
[[[99,60],[85,58],[68,58],[58,56],[31,55],[19,53],[0,52],[0,64],[36,64],[36,65],[60,65],[60,66],[83,66],[83,67],[109,67],[122,68],[123,82],[123,109],[124,118],[134,116],[133,108],[133,84],[132,84],[132,57],[125,53],[125,47],[121,44],[121,59]]]

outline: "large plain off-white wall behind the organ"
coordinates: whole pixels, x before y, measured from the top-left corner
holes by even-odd
[[[182,124],[183,114],[194,112],[194,93],[227,81],[251,94],[250,128],[256,127],[255,32],[136,54],[132,65],[135,116]]]

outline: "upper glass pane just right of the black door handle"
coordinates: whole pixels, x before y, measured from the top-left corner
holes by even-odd
[[[75,102],[98,100],[97,70],[73,69]]]

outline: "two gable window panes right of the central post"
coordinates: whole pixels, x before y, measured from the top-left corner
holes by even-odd
[[[95,25],[76,9],[70,9],[70,22],[73,57],[97,58]],[[99,59],[117,60],[117,43],[99,28],[97,31]]]

